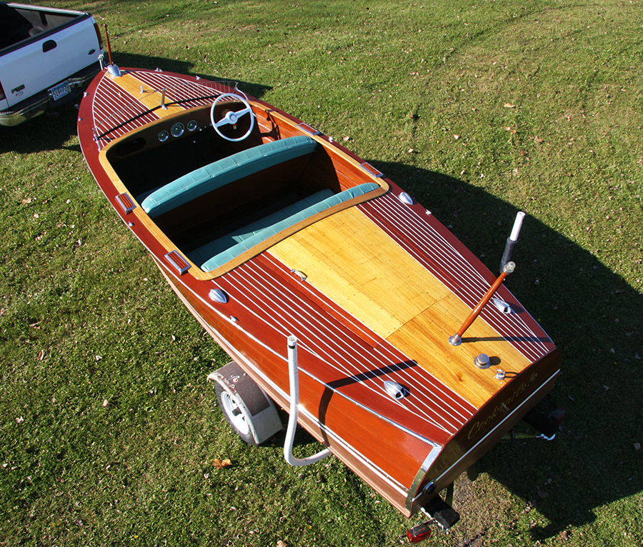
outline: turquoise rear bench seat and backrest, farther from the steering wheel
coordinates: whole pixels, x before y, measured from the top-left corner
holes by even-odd
[[[326,198],[323,196],[327,195],[327,192],[318,192],[256,223],[249,224],[233,234],[211,241],[209,244],[189,253],[188,257],[194,264],[201,263],[201,270],[212,271],[236,258],[244,251],[251,249],[251,247],[260,244],[275,234],[279,234],[280,231],[290,228],[314,214],[321,213],[321,211],[325,211],[329,207],[342,204],[344,201],[362,196],[377,188],[379,188],[377,183],[367,182]],[[321,201],[316,201],[316,199]],[[316,203],[311,204],[311,201],[316,201]],[[234,243],[237,239],[239,242]]]

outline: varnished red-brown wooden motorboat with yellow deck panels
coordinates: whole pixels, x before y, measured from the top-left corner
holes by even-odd
[[[293,116],[198,76],[110,65],[78,134],[116,213],[234,361],[211,376],[246,441],[275,428],[270,401],[294,401],[299,424],[395,508],[431,514],[554,386],[559,351],[504,273]]]

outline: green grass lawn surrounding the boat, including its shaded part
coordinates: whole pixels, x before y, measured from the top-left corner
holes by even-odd
[[[562,350],[567,418],[460,478],[432,544],[643,545],[639,0],[39,3],[109,24],[121,66],[240,81],[493,271],[526,211],[507,283]],[[417,522],[334,458],[291,468],[283,434],[234,436],[206,383],[227,358],[102,196],[73,108],[0,128],[0,197],[0,546],[389,547]]]

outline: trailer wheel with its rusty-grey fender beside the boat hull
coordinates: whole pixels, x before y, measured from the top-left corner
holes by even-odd
[[[208,379],[216,381],[216,400],[242,441],[259,446],[281,431],[281,419],[271,398],[234,361]]]

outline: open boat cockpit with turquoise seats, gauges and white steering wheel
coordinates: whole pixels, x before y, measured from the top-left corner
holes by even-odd
[[[223,273],[387,191],[372,168],[337,169],[350,161],[323,139],[228,97],[165,116],[101,151],[124,191],[201,271]],[[257,112],[264,119],[255,124]]]

